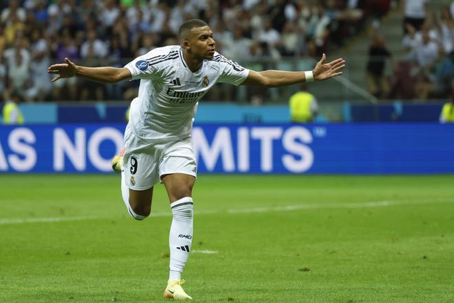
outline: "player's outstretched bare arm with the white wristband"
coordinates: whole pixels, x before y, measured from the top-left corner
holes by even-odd
[[[243,85],[258,85],[263,87],[282,87],[301,82],[320,81],[342,75],[345,60],[339,58],[325,63],[326,56],[322,58],[312,71],[249,71],[248,78]]]

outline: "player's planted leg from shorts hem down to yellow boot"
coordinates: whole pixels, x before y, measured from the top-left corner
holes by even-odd
[[[162,182],[166,186],[173,214],[169,234],[169,282],[164,290],[164,298],[191,300],[192,298],[181,287],[184,282],[181,279],[181,273],[191,252],[193,239],[194,208],[192,190],[195,177],[193,175],[175,173],[162,176]]]

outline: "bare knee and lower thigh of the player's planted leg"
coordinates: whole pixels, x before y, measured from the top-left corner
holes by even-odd
[[[173,173],[162,176],[162,183],[166,187],[170,203],[180,200],[184,197],[193,197],[193,187],[195,177],[183,173]]]

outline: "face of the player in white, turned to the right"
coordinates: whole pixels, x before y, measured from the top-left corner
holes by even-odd
[[[191,38],[188,41],[191,53],[202,60],[213,59],[215,55],[215,40],[210,27],[194,27],[191,30],[191,34]]]

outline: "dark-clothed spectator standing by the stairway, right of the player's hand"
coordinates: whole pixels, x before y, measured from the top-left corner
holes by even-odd
[[[367,60],[367,86],[369,93],[377,98],[388,97],[389,80],[385,76],[385,64],[389,58],[391,53],[385,45],[385,38],[373,30]]]

